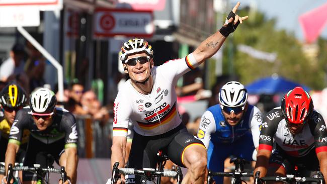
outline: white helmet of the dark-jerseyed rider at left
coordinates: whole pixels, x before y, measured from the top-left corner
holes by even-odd
[[[32,115],[53,115],[53,110],[57,104],[57,98],[53,91],[48,88],[35,90],[30,98],[30,108]]]

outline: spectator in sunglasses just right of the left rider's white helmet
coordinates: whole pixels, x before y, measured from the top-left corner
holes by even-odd
[[[88,112],[85,111],[81,104],[80,100],[84,93],[84,86],[79,82],[71,83],[69,87],[69,99],[66,105],[66,109],[74,115],[87,115]]]

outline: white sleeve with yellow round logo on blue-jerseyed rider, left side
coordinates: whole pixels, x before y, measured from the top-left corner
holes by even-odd
[[[203,142],[205,147],[209,148],[211,134],[216,131],[216,123],[210,111],[204,112],[201,117],[199,131],[197,137]]]

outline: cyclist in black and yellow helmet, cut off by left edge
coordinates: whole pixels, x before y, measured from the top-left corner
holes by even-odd
[[[5,154],[8,145],[10,128],[14,123],[16,113],[23,109],[27,102],[27,97],[24,89],[11,82],[7,84],[0,93],[0,103],[2,106],[3,117],[0,119],[0,162],[5,162]],[[29,137],[29,131],[24,130],[22,144],[16,155],[17,162],[23,162],[25,151],[27,148],[27,142]],[[5,174],[5,169],[0,169],[0,180]]]

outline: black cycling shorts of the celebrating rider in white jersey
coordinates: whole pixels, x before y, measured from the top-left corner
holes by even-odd
[[[175,164],[185,167],[183,151],[191,144],[204,146],[182,123],[175,129],[156,136],[142,136],[134,132],[127,165],[129,168],[155,168],[157,151],[162,150]]]

